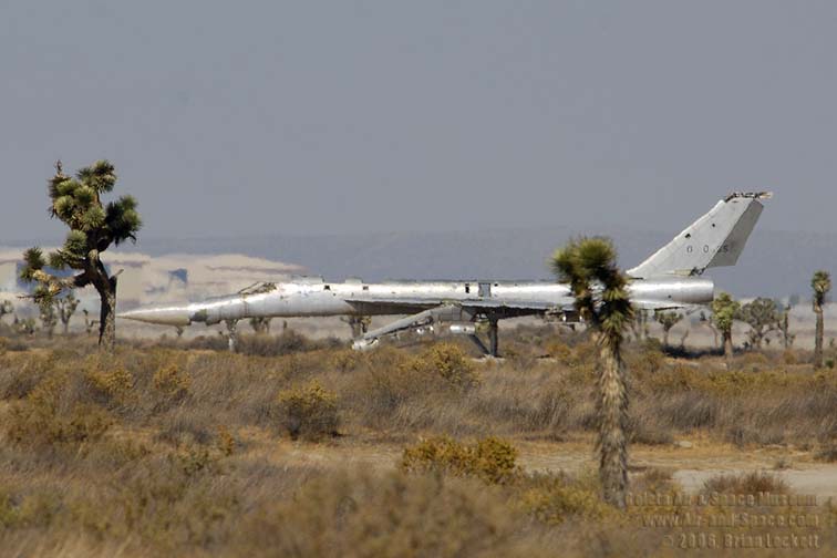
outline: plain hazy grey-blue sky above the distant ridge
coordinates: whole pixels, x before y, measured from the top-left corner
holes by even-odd
[[[0,245],[112,159],[141,235],[837,232],[837,2],[3,1]]]

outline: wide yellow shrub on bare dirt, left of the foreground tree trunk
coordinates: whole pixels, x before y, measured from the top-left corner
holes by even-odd
[[[499,438],[486,437],[466,445],[443,436],[405,447],[401,468],[476,476],[488,484],[504,484],[519,473],[516,459],[517,450]]]

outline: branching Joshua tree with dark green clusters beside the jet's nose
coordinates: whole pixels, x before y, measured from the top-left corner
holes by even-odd
[[[92,285],[102,302],[99,320],[99,345],[112,351],[116,343],[116,275],[110,275],[101,255],[111,245],[125,240],[136,241],[142,226],[136,211],[136,200],[122,196],[106,205],[102,195],[113,190],[116,184],[114,166],[107,161],[97,161],[79,169],[75,177],[68,176],[55,164],[55,175],[49,180],[50,207],[53,218],[63,221],[70,232],[64,246],[50,252],[30,248],[23,254],[24,266],[21,279],[34,281],[33,298],[39,304],[51,301],[63,291]],[[70,277],[59,277],[46,271],[72,269]]]

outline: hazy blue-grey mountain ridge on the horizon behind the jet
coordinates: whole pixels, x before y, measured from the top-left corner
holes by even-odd
[[[141,237],[136,248],[151,255],[244,254],[293,262],[338,280],[380,279],[549,279],[549,255],[570,236],[598,232],[616,240],[621,265],[631,267],[672,238],[672,232],[566,227],[467,232],[287,235],[175,239]],[[711,270],[720,289],[738,297],[807,297],[812,273],[837,271],[837,235],[756,228],[738,266]]]

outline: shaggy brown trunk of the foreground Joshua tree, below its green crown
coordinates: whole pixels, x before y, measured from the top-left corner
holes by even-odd
[[[599,374],[599,478],[604,502],[624,509],[628,489],[628,392],[618,345],[602,343]]]

